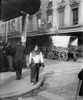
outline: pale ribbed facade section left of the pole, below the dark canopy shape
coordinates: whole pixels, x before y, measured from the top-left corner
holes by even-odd
[[[6,22],[0,22],[0,36],[5,36],[6,42],[8,35],[14,35],[15,32],[22,33],[22,16]]]

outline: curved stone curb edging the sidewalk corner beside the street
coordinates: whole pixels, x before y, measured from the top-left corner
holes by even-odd
[[[15,97],[15,96],[21,96],[21,95],[24,95],[26,93],[30,93],[33,90],[38,89],[42,85],[43,81],[44,81],[44,78],[43,77],[42,78],[40,77],[39,82],[37,84],[33,85],[33,87],[31,87],[30,89],[27,89],[26,88],[26,89],[20,90],[20,91],[18,91],[16,93],[2,95],[2,96],[0,96],[0,100],[5,99],[5,98]]]

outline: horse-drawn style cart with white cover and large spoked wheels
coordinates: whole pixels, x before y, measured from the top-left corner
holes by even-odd
[[[47,52],[47,58],[49,59],[59,59],[62,61],[67,60],[77,60],[77,46],[78,38],[73,37],[71,41],[71,36],[52,36],[53,45]]]

